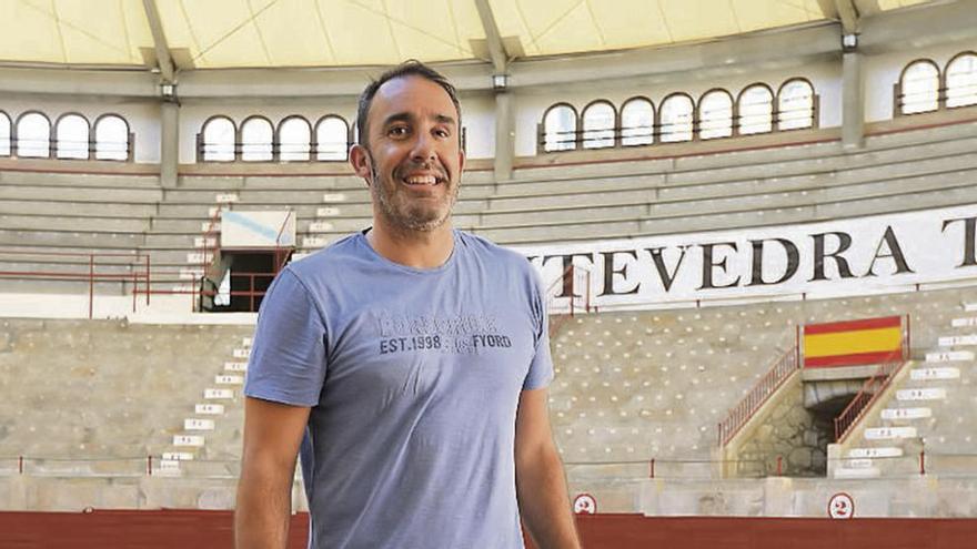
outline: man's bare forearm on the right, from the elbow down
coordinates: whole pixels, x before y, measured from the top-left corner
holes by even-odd
[[[542,451],[517,467],[516,492],[523,521],[540,549],[581,547],[563,462],[555,449]]]

